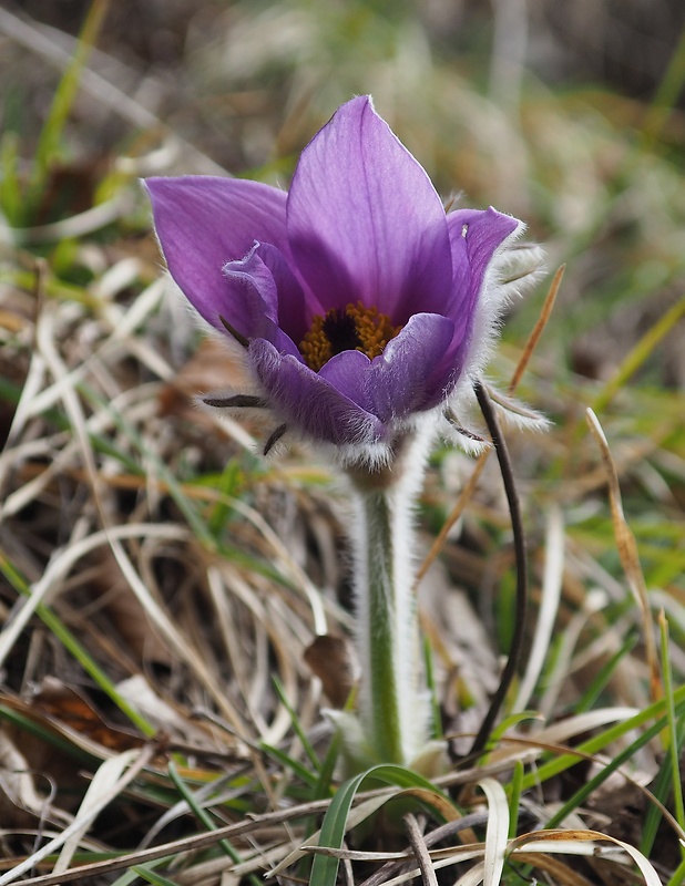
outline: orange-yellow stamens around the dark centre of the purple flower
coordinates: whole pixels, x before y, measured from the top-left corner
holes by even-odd
[[[361,301],[350,302],[345,308],[317,315],[299,343],[299,352],[315,372],[343,351],[361,351],[372,360],[401,328],[392,326],[388,315],[377,308],[366,308]]]

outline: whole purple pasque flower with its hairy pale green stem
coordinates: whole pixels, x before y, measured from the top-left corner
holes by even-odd
[[[468,396],[504,297],[535,265],[507,250],[521,223],[446,213],[368,96],[305,147],[287,193],[204,176],[146,184],[171,276],[244,346],[258,385],[207,402],[270,409],[351,481],[362,676],[358,713],[338,715],[347,760],[426,769],[412,508],[440,419]]]

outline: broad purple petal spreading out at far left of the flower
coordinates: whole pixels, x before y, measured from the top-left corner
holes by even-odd
[[[287,254],[287,195],[259,182],[214,176],[147,178],[155,229],[168,270],[204,319],[225,331],[223,316],[249,336],[249,309],[223,268],[244,258],[256,239]]]

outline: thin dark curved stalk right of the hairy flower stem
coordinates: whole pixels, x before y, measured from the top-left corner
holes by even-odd
[[[528,602],[528,556],[525,550],[525,536],[523,533],[523,519],[521,517],[521,504],[514,484],[513,472],[511,470],[511,461],[509,459],[509,451],[504,443],[504,437],[500,431],[500,425],[497,420],[497,414],[488,396],[488,393],[480,382],[473,385],[473,391],[478,400],[478,404],[483,413],[483,419],[488,425],[488,431],[492,437],[492,444],[497,453],[498,462],[500,464],[500,472],[502,481],[504,482],[504,492],[507,494],[507,503],[509,504],[509,513],[511,514],[511,528],[513,530],[514,550],[517,555],[517,612],[514,620],[514,632],[511,641],[511,649],[509,650],[509,658],[507,666],[502,671],[500,684],[497,692],[492,697],[490,708],[485,714],[483,722],[478,731],[478,734],[471,745],[468,756],[479,756],[490,733],[500,708],[507,697],[511,681],[514,678],[519,661],[521,659],[521,651],[523,649],[523,631],[525,629],[525,610]]]

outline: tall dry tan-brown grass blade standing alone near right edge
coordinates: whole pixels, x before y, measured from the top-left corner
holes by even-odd
[[[609,442],[602,430],[597,416],[592,409],[587,409],[585,413],[587,424],[592,435],[600,446],[602,461],[606,471],[606,478],[609,481],[609,501],[611,506],[612,522],[614,525],[614,537],[616,539],[616,547],[618,556],[621,557],[621,565],[625,571],[628,587],[633,593],[635,601],[642,612],[642,629],[645,643],[645,651],[647,658],[647,667],[650,669],[650,689],[652,698],[657,701],[662,694],[662,681],[658,667],[658,657],[656,652],[656,640],[654,637],[654,624],[652,620],[652,611],[650,609],[650,599],[647,595],[647,586],[645,584],[644,574],[640,564],[640,554],[637,552],[637,543],[633,535],[631,527],[627,525],[625,514],[623,513],[623,503],[621,498],[621,484],[618,483],[618,474],[616,466],[609,447]]]

